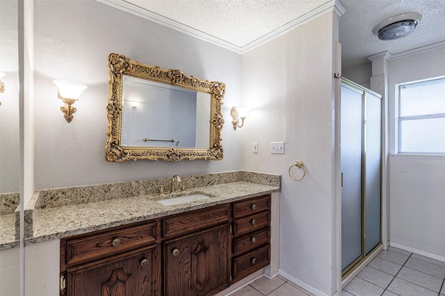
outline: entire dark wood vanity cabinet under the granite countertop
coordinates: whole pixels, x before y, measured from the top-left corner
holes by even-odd
[[[60,240],[60,295],[215,295],[270,263],[270,195]]]

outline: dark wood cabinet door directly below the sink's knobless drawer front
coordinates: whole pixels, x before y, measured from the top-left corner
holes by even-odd
[[[229,286],[229,225],[163,244],[165,296],[213,295]]]

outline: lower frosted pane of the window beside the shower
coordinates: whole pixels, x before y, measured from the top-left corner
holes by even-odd
[[[445,153],[445,118],[401,121],[401,153]]]

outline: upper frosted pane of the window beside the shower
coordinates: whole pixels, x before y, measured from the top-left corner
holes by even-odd
[[[400,87],[400,116],[445,113],[445,78]]]

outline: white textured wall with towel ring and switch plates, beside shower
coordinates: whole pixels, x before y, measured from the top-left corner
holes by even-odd
[[[333,26],[328,12],[243,54],[243,105],[252,108],[243,128],[243,169],[282,175],[280,270],[312,289],[333,295],[334,112]],[[334,31],[337,33],[338,28]],[[252,153],[252,142],[259,153]],[[270,154],[271,141],[285,153]],[[302,182],[289,178],[301,159]],[[294,171],[300,177],[302,171]],[[334,266],[333,266],[334,265]]]

